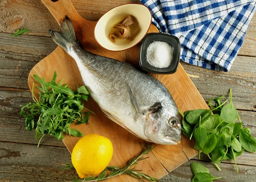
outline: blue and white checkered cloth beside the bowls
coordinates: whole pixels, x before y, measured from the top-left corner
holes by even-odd
[[[256,0],[141,0],[161,32],[180,39],[180,59],[229,71],[256,9]]]

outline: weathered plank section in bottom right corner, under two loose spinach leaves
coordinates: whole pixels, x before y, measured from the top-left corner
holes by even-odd
[[[189,160],[188,162],[181,165],[179,168],[173,170],[169,175],[164,176],[160,182],[191,182],[194,176],[190,164],[192,162],[199,162],[207,167],[215,177],[222,177],[222,179],[214,180],[214,182],[255,182],[256,181],[256,167],[247,165],[238,165],[239,173],[236,173],[236,167],[232,164],[221,163],[218,166],[221,171],[211,162],[203,162],[198,160]]]

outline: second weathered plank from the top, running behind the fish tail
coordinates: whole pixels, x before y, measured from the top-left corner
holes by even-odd
[[[10,37],[0,33],[0,85],[12,88],[28,88],[30,69],[55,48],[49,37],[23,35]],[[228,95],[233,89],[233,102],[242,110],[256,110],[256,57],[238,56],[228,73],[212,71],[181,63],[205,100]],[[250,66],[248,66],[250,65]]]

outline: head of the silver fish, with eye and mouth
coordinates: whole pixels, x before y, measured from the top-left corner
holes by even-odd
[[[176,145],[181,140],[179,113],[175,107],[155,103],[146,115],[145,135],[154,143]]]

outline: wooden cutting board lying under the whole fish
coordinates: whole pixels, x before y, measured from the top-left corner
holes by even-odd
[[[58,0],[57,2],[42,0],[42,2],[59,24],[64,19],[65,15],[70,18],[74,25],[77,39],[84,49],[94,54],[125,61],[138,67],[140,44],[125,51],[108,51],[100,47],[94,39],[93,30],[96,22],[82,18],[76,12],[70,0]],[[150,32],[158,32],[158,30],[154,25],[151,25],[148,33]],[[83,85],[75,61],[58,46],[55,51],[36,64],[30,71],[28,78],[30,90],[32,90],[33,83],[35,83],[35,87],[38,86],[33,77],[34,74],[37,74],[39,77],[45,77],[45,79],[49,81],[52,79],[54,71],[57,71],[58,74],[57,82],[64,79],[64,83],[74,90],[77,88],[77,85]],[[181,65],[179,65],[175,74],[152,75],[162,82],[170,91],[180,111],[198,108],[208,109],[206,102]],[[38,90],[35,89],[34,93],[35,97],[38,99]],[[96,133],[109,138],[113,143],[114,149],[110,165],[123,166],[129,159],[140,153],[142,150],[140,145],[140,143],[143,143],[142,139],[135,137],[133,134],[105,117],[93,99],[85,103],[85,107],[95,112],[96,115],[91,114],[89,125],[72,125],[72,128],[78,129],[85,135]],[[73,147],[79,139],[78,137],[68,135],[63,139],[70,153],[72,153]],[[42,140],[42,144],[43,143],[44,139]],[[143,170],[144,173],[150,176],[161,178],[195,156],[197,151],[193,149],[193,146],[194,142],[189,141],[189,139],[184,136],[182,136],[181,143],[178,145],[157,145],[157,147],[148,154],[150,158],[139,162],[136,168]],[[128,175],[122,175],[109,179],[108,181],[133,182],[138,180]]]

